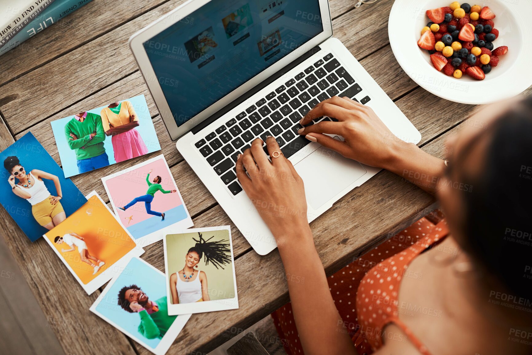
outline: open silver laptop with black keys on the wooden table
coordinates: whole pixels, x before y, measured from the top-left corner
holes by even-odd
[[[275,239],[235,168],[253,139],[276,137],[304,181],[309,222],[380,170],[297,134],[316,104],[347,96],[375,110],[396,137],[421,139],[332,37],[327,0],[190,0],[129,45],[178,151],[261,255]],[[312,123],[321,120],[334,118]]]

